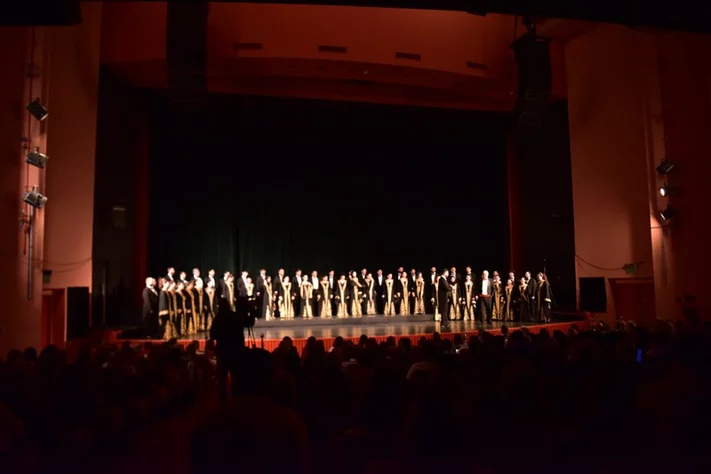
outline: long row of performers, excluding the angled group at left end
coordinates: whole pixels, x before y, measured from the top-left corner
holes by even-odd
[[[450,282],[451,293],[447,295],[446,319],[549,322],[550,285],[543,274],[538,276],[540,284],[531,282],[530,274],[527,276],[528,280],[521,278],[519,285],[514,285],[511,279],[503,285],[496,273],[493,279],[489,279],[485,271],[480,282],[475,282],[471,274],[467,274],[464,281],[459,281],[457,275],[448,273],[445,278]],[[437,288],[442,277],[434,275],[430,286]],[[224,281],[226,291],[221,296],[235,301],[234,277],[226,274]],[[403,272],[400,278],[393,279],[392,274],[385,278],[379,274],[374,278],[367,272],[363,272],[362,276],[352,272],[348,277],[341,275],[335,281],[332,276],[312,281],[305,275],[297,275],[292,283],[280,271],[273,283],[271,276],[262,270],[258,281],[255,288],[252,279],[244,272],[237,296],[256,298],[261,316],[267,321],[275,317],[293,319],[296,315],[306,319],[314,316],[421,315],[426,314],[428,307],[432,311],[427,314],[434,314],[435,320],[441,320],[442,316],[438,292],[427,291],[428,285],[422,273],[408,276]]]

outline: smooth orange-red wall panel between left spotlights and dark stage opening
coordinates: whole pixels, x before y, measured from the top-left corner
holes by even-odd
[[[44,266],[45,288],[91,291],[101,4],[84,4],[82,16],[79,26],[52,29]]]

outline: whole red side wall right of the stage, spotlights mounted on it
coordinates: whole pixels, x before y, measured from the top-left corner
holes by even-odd
[[[610,282],[653,285],[658,317],[679,317],[685,292],[708,307],[699,269],[709,263],[710,55],[702,37],[609,25],[566,46],[577,276],[608,279],[604,317],[639,319],[652,305],[640,290],[622,307],[629,298],[615,293],[628,287]],[[678,165],[668,180],[683,188],[669,199],[679,210],[669,225],[655,171],[665,156]],[[636,274],[622,270],[634,262]]]

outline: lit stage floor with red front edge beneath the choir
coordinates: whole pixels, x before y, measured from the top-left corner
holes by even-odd
[[[538,333],[542,328],[547,328],[553,332],[556,330],[567,331],[573,324],[583,325],[583,318],[577,315],[558,315],[551,324],[521,324],[506,323],[510,330],[527,327],[529,331]],[[502,322],[493,322],[491,325],[485,324],[483,328],[492,334],[501,334]],[[454,334],[463,334],[466,337],[476,334],[481,325],[472,321],[452,321],[448,329],[442,329],[440,323],[432,320],[432,315],[410,315],[410,316],[364,316],[362,318],[348,319],[301,319],[272,321],[257,320],[254,326],[254,338],[258,347],[273,350],[284,337],[290,337],[294,345],[300,351],[306,344],[309,337],[315,337],[324,341],[328,349],[336,337],[356,342],[362,335],[375,338],[378,342],[385,341],[389,336],[396,339],[410,337],[419,339],[420,337],[431,338],[434,332],[440,332],[442,337],[450,338]],[[159,342],[151,339],[144,339],[133,331],[109,331],[106,334],[107,342],[130,341],[131,343],[145,343],[148,341]],[[196,340],[200,348],[204,348],[207,334],[200,332],[193,337],[182,339],[179,342],[183,345]]]

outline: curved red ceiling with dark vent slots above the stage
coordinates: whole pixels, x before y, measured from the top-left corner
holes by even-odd
[[[104,4],[102,62],[166,87],[166,3]],[[509,111],[514,19],[461,12],[210,4],[211,91]]]

